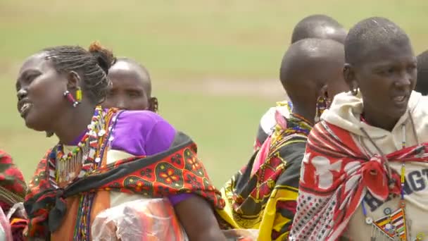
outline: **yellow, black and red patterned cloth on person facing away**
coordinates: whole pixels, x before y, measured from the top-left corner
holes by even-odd
[[[293,113],[286,118],[277,111],[275,118],[272,135],[222,188],[226,206],[218,211],[232,228],[259,229],[259,240],[285,240],[289,234],[311,128]]]

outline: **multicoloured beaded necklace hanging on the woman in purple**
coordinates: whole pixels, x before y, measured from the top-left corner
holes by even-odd
[[[82,140],[71,152],[64,154],[63,145],[58,144],[51,153],[50,163],[55,168],[55,176],[51,183],[57,187],[65,187],[75,180],[90,175],[101,166],[103,154],[113,141],[113,128],[118,115],[115,111],[103,111],[97,106],[92,116],[91,124]],[[73,238],[89,240],[92,204],[95,192],[81,194]]]

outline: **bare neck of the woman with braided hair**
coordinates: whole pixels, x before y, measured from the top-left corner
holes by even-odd
[[[61,144],[70,144],[79,137],[91,123],[95,106],[83,105],[61,114],[58,126],[53,132]]]

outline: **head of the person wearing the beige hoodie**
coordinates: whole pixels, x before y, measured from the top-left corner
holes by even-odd
[[[386,18],[367,18],[349,30],[344,78],[363,99],[370,125],[391,131],[408,110],[417,79],[417,60],[410,39]]]

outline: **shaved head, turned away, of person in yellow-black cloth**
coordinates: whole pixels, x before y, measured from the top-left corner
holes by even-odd
[[[344,44],[331,39],[302,39],[291,44],[282,58],[279,78],[294,106],[315,110],[323,88],[330,98],[346,91],[343,66]]]

